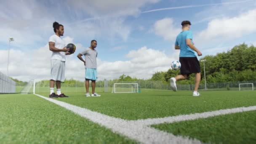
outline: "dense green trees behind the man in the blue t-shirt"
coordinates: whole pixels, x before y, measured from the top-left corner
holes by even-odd
[[[256,47],[246,44],[236,45],[227,52],[216,56],[205,56],[205,75],[207,83],[249,81],[256,80]],[[200,59],[200,60],[202,60]],[[203,62],[200,62],[202,83],[204,83]],[[156,72],[151,80],[168,81],[170,77],[178,75],[179,71],[169,69],[167,72]],[[179,81],[180,84],[193,83],[195,75],[188,80]]]

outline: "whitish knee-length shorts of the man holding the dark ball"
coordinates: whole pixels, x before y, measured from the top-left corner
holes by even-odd
[[[51,59],[51,80],[64,82],[65,61]]]

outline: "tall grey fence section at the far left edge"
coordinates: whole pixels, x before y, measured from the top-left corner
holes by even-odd
[[[16,83],[0,72],[0,93],[15,93]]]

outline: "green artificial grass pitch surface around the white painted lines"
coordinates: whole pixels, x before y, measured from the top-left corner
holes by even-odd
[[[46,91],[47,92],[47,91]],[[37,93],[48,97],[45,91]],[[143,89],[141,93],[65,93],[58,98],[78,107],[125,120],[186,115],[256,106],[255,91],[191,91]],[[0,95],[1,143],[136,143],[73,112],[28,94]],[[151,127],[206,143],[256,143],[256,111],[163,123]]]

